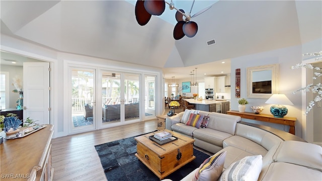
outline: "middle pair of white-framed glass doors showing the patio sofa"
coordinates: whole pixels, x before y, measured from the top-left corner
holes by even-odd
[[[139,120],[140,74],[102,70],[101,77],[100,127]]]

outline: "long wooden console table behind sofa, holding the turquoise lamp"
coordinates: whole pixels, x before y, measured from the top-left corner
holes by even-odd
[[[236,115],[236,116],[240,116],[241,118],[251,119],[256,121],[264,121],[269,123],[288,125],[290,126],[290,130],[288,132],[295,135],[296,118],[293,118],[293,117],[275,118],[273,115],[254,114],[250,112],[240,113],[238,111],[227,111],[227,114]]]

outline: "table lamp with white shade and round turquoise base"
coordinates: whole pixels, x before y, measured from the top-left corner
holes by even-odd
[[[288,110],[284,105],[293,105],[284,94],[273,94],[265,103],[274,104],[270,112],[276,118],[283,118],[287,115]]]

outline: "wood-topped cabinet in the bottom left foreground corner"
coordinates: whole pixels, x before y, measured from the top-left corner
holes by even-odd
[[[1,180],[52,180],[53,125],[1,144]]]

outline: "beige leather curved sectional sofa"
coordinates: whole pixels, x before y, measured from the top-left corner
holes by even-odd
[[[197,112],[209,117],[206,128],[186,125],[187,115]],[[287,132],[262,128],[240,122],[239,116],[197,110],[186,110],[166,119],[166,129],[194,138],[195,146],[216,154],[225,151],[223,170],[248,156],[261,155],[258,180],[321,180],[320,146]],[[193,180],[196,170],[182,180]]]

